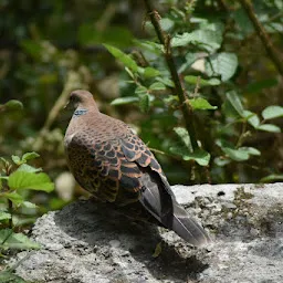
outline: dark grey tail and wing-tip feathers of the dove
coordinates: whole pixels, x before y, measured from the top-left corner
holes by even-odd
[[[175,200],[169,184],[157,172],[144,172],[142,182],[144,190],[139,201],[163,226],[193,245],[210,241],[205,229]]]

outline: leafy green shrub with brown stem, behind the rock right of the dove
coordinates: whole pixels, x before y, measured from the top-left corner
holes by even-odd
[[[190,161],[197,168],[192,176],[198,181],[205,180],[203,166],[210,168],[216,182],[242,161],[251,160],[247,166],[260,170],[261,149],[245,143],[258,132],[281,133],[269,122],[282,117],[283,107],[268,106],[260,118],[243,106],[243,90],[234,80],[239,60],[226,43],[224,22],[193,17],[195,1],[169,8],[164,18],[150,1],[144,2],[148,15],[144,27],[154,36],[135,40],[132,54],[104,44],[124,64],[127,83],[134,88],[134,95],[118,97],[112,104],[138,104],[142,112],[150,112],[148,123],[153,125],[155,119],[161,128],[156,133],[166,140],[156,151]],[[164,118],[167,114],[171,116],[169,123]],[[213,174],[217,170],[221,174]],[[263,175],[270,172],[270,168],[264,170]],[[210,175],[206,177],[211,179]]]

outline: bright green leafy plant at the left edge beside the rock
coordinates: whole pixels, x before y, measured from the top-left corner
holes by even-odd
[[[15,232],[22,223],[27,223],[24,211],[36,209],[36,205],[28,201],[27,190],[50,192],[54,189],[49,176],[28,164],[39,157],[36,153],[25,153],[22,157],[12,156],[12,161],[1,157],[0,176],[0,251],[8,249],[36,249],[39,244],[31,241],[22,232]]]

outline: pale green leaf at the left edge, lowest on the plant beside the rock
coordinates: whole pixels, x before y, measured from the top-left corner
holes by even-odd
[[[14,233],[11,229],[0,230],[0,247],[17,250],[40,249],[40,244],[30,240],[23,233]]]

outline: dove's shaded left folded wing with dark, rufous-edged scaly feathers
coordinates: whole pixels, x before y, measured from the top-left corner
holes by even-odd
[[[136,163],[126,158],[118,139],[86,144],[74,136],[67,154],[80,156],[81,160],[70,158],[70,163],[75,163],[70,167],[84,189],[109,202],[137,201],[143,172]]]

